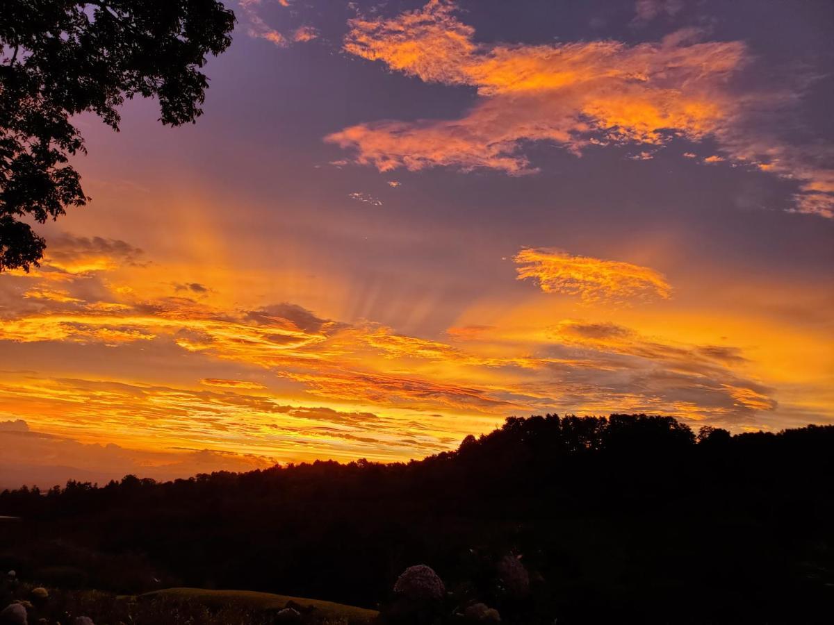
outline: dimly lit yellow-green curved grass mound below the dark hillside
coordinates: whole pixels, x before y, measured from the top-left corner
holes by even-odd
[[[346,606],[342,603],[306,599],[304,597],[288,597],[275,595],[271,592],[254,592],[251,590],[204,590],[203,588],[166,588],[154,592],[147,592],[140,597],[162,597],[172,599],[188,599],[203,603],[208,607],[223,607],[234,604],[254,610],[280,609],[288,601],[301,606],[312,606],[316,611],[328,618],[342,620],[348,625],[367,625],[374,621],[379,612],[367,610],[363,607]]]

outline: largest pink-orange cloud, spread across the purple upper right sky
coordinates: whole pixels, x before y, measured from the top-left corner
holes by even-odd
[[[676,2],[638,4],[644,18],[676,10]],[[520,175],[536,171],[522,151],[525,142],[557,143],[579,154],[590,145],[709,136],[731,160],[765,163],[768,171],[797,181],[794,210],[834,216],[830,166],[816,165],[823,161],[809,149],[752,128],[746,117],[748,109],[768,106],[776,114],[794,94],[740,94],[727,87],[750,62],[743,43],[697,42],[701,33],[685,29],[633,46],[486,44],[475,42],[475,29],[454,12],[453,2],[431,0],[395,18],[354,18],[344,50],[425,82],[474,87],[475,106],[455,120],[359,123],[325,141],[381,172],[453,167]]]

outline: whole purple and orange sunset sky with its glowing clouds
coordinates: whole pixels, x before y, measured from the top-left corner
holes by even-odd
[[[0,488],[834,423],[834,5],[229,2],[0,274]]]

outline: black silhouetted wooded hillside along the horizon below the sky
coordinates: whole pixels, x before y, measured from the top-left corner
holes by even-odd
[[[827,622],[834,427],[510,418],[407,464],[316,462],[0,493],[0,566],[56,585],[249,588],[374,607],[520,555],[560,622]]]

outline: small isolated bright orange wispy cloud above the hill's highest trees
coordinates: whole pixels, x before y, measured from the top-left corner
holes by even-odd
[[[533,280],[545,293],[579,296],[585,303],[671,297],[660,273],[631,263],[533,248],[522,249],[513,260],[519,280]]]

